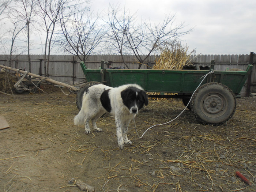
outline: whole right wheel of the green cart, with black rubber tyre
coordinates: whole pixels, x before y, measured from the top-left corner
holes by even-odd
[[[224,84],[206,83],[193,95],[191,110],[200,123],[221,125],[235,113],[236,97]]]

